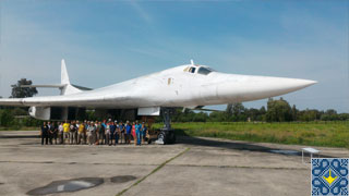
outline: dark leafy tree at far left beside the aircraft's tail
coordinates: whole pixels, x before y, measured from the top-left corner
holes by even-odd
[[[21,78],[20,81],[17,81],[17,84],[12,85],[12,93],[10,98],[33,97],[37,94],[35,87],[22,88],[21,85],[32,85],[32,81],[27,81],[26,78]]]

